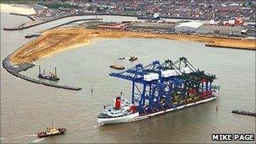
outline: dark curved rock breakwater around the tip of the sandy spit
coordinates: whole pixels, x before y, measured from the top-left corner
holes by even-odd
[[[23,74],[20,74],[19,72],[26,71],[30,67],[34,67],[35,64],[29,63],[29,62],[24,62],[24,63],[20,63],[20,64],[13,66],[9,59],[10,56],[12,56],[12,54],[10,54],[4,58],[3,68],[5,68],[7,70],[7,72],[13,74],[13,76],[15,76],[15,77],[19,77],[21,79],[24,79],[24,80],[32,82],[32,83],[43,84],[45,86],[54,87],[54,88],[62,88],[62,89],[68,89],[68,90],[81,90],[82,89],[82,88],[71,87],[71,86],[67,86],[67,85],[58,85],[56,83],[47,83],[45,81],[40,81],[40,80],[32,78],[32,77],[24,76]]]

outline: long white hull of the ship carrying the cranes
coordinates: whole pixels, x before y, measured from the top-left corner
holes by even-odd
[[[121,117],[116,117],[116,118],[105,118],[105,119],[100,119],[98,118],[98,122],[100,125],[106,125],[106,124],[120,124],[120,123],[125,123],[125,122],[131,122],[131,121],[137,121],[137,120],[144,120],[147,118],[150,118],[152,116],[155,115],[161,115],[163,113],[168,113],[177,109],[184,109],[187,107],[190,107],[192,105],[196,105],[196,104],[203,104],[206,102],[210,102],[211,100],[216,99],[216,96],[211,96],[211,98],[208,99],[202,99],[200,101],[197,101],[195,103],[190,103],[190,104],[184,104],[175,108],[171,108],[171,109],[166,109],[166,110],[161,110],[161,111],[157,111],[155,113],[152,114],[147,114],[147,115],[139,115],[139,113],[135,113],[132,115],[126,115],[126,116],[121,116]]]

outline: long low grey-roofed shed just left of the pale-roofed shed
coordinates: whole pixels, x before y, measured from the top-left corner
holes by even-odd
[[[175,24],[168,23],[134,23],[130,25],[131,29],[145,29],[145,30],[165,30],[174,31]]]

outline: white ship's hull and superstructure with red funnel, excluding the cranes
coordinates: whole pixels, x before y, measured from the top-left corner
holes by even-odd
[[[168,109],[164,109],[164,108],[156,109],[152,113],[142,113],[142,114],[138,110],[136,110],[137,107],[134,104],[131,104],[127,100],[119,100],[119,99],[120,97],[116,97],[115,104],[109,105],[108,107],[104,106],[104,112],[100,113],[97,116],[98,123],[100,125],[119,124],[119,123],[131,122],[136,120],[144,120],[155,115],[171,112],[173,110],[183,109],[192,105],[209,102],[211,100],[216,99],[216,95],[212,94],[205,99],[198,99],[187,104],[186,103],[173,104],[173,106],[169,107]]]

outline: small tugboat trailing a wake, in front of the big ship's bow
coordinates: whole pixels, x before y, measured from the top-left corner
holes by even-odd
[[[66,128],[56,129],[55,126],[48,126],[46,131],[37,133],[37,136],[40,138],[47,137],[47,136],[55,136],[55,135],[64,134],[65,131],[67,131]]]

